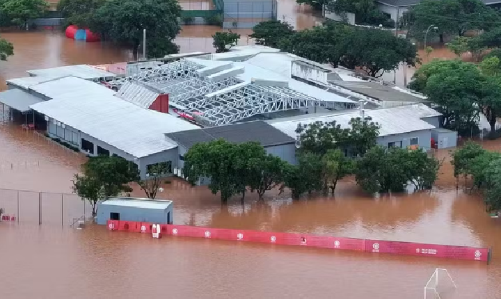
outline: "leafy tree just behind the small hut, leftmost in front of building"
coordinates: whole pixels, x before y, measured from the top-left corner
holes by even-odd
[[[96,204],[108,196],[131,192],[129,182],[138,181],[139,173],[134,163],[119,156],[90,157],[81,166],[82,175],[74,175],[73,192],[88,200],[96,213]]]

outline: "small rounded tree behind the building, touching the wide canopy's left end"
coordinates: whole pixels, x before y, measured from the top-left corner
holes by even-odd
[[[283,38],[288,38],[294,33],[294,27],[287,22],[280,20],[270,20],[260,22],[253,28],[253,33],[250,38],[256,40],[256,45],[264,45],[268,47],[278,47],[278,42]]]

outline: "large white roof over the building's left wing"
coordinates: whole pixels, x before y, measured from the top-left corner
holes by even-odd
[[[198,128],[173,115],[144,109],[119,99],[110,93],[112,90],[97,83],[77,80],[94,87],[89,89],[89,93],[69,92],[65,97],[34,104],[30,108],[136,158],[176,147],[177,144],[165,140],[166,133]]]

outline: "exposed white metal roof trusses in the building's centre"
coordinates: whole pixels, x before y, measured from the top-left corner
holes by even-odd
[[[120,81],[140,81],[168,93],[169,104],[186,113],[193,113],[197,122],[219,126],[238,122],[253,115],[319,106],[333,110],[352,108],[353,104],[316,99],[290,88],[243,83],[230,76],[211,81],[200,76],[202,65],[189,60],[178,60],[152,70],[134,74]],[[239,84],[239,86],[237,86]],[[234,89],[231,89],[231,87]],[[223,91],[229,88],[228,91]],[[221,93],[207,97],[212,92]]]

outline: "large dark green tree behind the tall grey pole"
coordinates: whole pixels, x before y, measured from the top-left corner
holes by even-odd
[[[109,0],[95,11],[90,30],[130,47],[137,59],[146,29],[148,57],[164,56],[178,51],[173,39],[180,32],[179,17],[181,7],[175,0]]]

